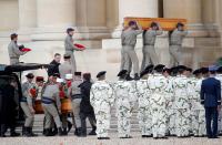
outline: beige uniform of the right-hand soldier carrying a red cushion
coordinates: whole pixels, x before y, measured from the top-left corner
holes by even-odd
[[[74,46],[73,42],[74,40],[70,35],[67,35],[67,38],[64,39],[65,54],[69,54],[71,56],[71,65],[72,65],[73,72],[75,72],[77,64],[75,64],[75,59],[74,59],[74,50],[78,50],[78,49]]]

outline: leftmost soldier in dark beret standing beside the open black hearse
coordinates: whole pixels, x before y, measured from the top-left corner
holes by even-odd
[[[27,76],[27,82],[22,84],[22,99],[20,101],[20,105],[22,111],[24,112],[26,115],[26,122],[23,126],[23,135],[27,137],[30,136],[37,136],[36,134],[32,133],[32,127],[33,127],[33,122],[34,122],[34,108],[33,108],[33,103],[34,103],[34,97],[32,96],[30,90],[34,89],[36,85],[32,82],[34,75],[32,73],[29,73],[26,75]]]

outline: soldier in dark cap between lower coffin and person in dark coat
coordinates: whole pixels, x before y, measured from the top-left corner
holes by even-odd
[[[80,121],[80,103],[82,101],[81,90],[79,85],[82,83],[81,72],[74,72],[74,80],[69,89],[69,95],[72,99],[72,110],[74,115],[74,124],[75,124],[75,135],[81,134],[81,121]]]

